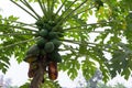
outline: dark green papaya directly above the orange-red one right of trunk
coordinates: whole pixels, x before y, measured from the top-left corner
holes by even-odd
[[[62,62],[62,56],[58,52],[53,52],[48,55],[51,62],[55,62],[55,63],[61,63]]]

